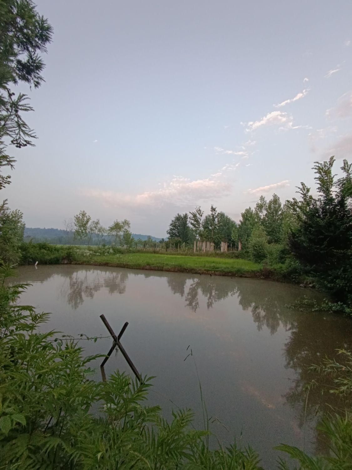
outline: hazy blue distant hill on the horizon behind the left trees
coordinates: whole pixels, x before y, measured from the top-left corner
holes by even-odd
[[[140,238],[141,240],[146,240],[149,235],[142,235],[142,234],[132,234],[133,238],[136,240]],[[151,236],[154,242],[159,242],[161,238],[157,238],[155,236]],[[33,239],[34,242],[47,242],[51,244],[57,245],[69,245],[73,243],[73,232],[69,232],[67,230],[62,230],[60,228],[39,228],[39,227],[25,227],[24,229],[24,240],[29,241]],[[86,242],[85,242],[86,243]],[[85,244],[82,243],[82,244]],[[92,237],[91,244],[96,244],[96,240],[94,236]],[[106,235],[102,243],[110,244],[111,237]],[[75,240],[75,244],[81,244]]]

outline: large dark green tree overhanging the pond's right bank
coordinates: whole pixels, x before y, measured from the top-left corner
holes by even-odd
[[[314,164],[317,198],[301,183],[301,200],[294,198],[288,203],[298,221],[290,234],[290,247],[321,289],[352,305],[351,165],[344,160],[344,177],[335,181],[334,162],[331,157]]]

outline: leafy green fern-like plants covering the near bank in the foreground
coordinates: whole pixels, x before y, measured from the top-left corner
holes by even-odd
[[[4,280],[11,274],[0,268]],[[261,469],[252,448],[219,445],[211,451],[208,431],[191,426],[190,410],[174,413],[168,422],[159,407],[144,405],[149,378],[139,384],[115,372],[107,382],[93,381],[89,363],[99,355],[84,357],[74,340],[41,333],[38,326],[48,314],[15,304],[25,288],[0,282],[0,469]],[[340,368],[335,362],[324,367]],[[351,368],[343,370],[346,380]],[[341,392],[351,392],[345,382],[337,384]],[[277,449],[296,459],[301,470],[351,469],[352,416],[326,418],[320,429],[331,442],[329,456]],[[291,468],[284,461],[278,465]]]

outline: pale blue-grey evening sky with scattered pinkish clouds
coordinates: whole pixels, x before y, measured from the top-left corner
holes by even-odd
[[[46,82],[17,86],[36,147],[5,190],[28,227],[84,209],[163,237],[177,212],[235,220],[352,157],[352,2],[37,0]],[[312,189],[314,194],[314,189]]]

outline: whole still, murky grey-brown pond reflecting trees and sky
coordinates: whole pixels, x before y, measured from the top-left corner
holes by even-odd
[[[329,406],[342,404],[319,387],[307,398],[306,385],[317,378],[309,367],[352,347],[352,321],[285,306],[317,292],[255,279],[95,266],[25,266],[16,281],[32,284],[22,304],[52,313],[47,330],[105,337],[101,313],[116,333],[128,321],[122,345],[143,376],[156,376],[149,402],[160,404],[166,417],[172,408],[189,407],[202,426],[200,381],[211,430],[224,445],[235,437],[241,446],[251,444],[265,468],[275,467],[273,447],[280,443],[326,451],[315,425]],[[112,342],[82,344],[95,354]],[[106,374],[116,368],[130,372],[121,353],[107,361]]]

